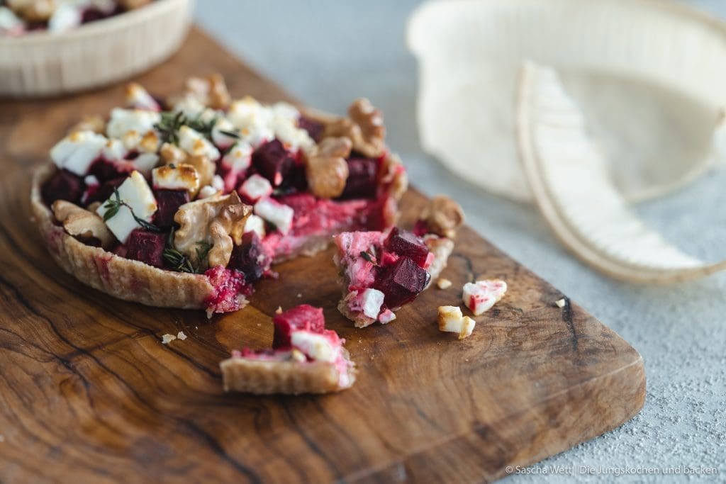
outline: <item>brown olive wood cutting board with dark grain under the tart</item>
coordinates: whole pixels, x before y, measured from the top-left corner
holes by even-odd
[[[165,93],[211,72],[236,97],[290,99],[196,29],[139,82]],[[0,102],[1,483],[489,481],[643,406],[637,351],[468,228],[443,274],[452,288],[425,291],[386,326],[355,329],[338,313],[332,250],[277,266],[280,279],[258,284],[247,308],[211,320],[84,286],[38,236],[30,171],[82,114],[122,99],[117,85]],[[424,202],[409,191],[404,225]],[[484,277],[505,279],[505,298],[476,318],[471,337],[439,332],[436,308],[460,303],[462,284]],[[269,345],[277,306],[300,303],[325,308],[346,338],[356,385],[322,396],[225,394],[219,361]],[[161,343],[179,331],[187,340]]]

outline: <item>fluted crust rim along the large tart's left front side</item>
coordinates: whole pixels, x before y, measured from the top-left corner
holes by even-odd
[[[213,287],[205,276],[164,271],[119,257],[79,242],[56,225],[41,197],[41,185],[54,171],[53,165],[36,169],[30,204],[52,258],[68,274],[114,298],[162,308],[205,308],[205,300],[213,295]]]

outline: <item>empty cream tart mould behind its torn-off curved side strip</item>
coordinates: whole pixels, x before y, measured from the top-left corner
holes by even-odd
[[[452,171],[534,201],[518,162],[525,60],[554,67],[582,107],[607,173],[632,202],[714,164],[726,106],[726,24],[669,0],[428,1],[412,15],[424,149]]]

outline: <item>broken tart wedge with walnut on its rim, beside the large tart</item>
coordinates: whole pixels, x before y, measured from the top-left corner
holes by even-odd
[[[420,235],[393,227],[388,231],[354,231],[335,236],[338,253],[334,261],[343,284],[338,310],[356,327],[393,321],[394,311],[414,300],[444,270],[454,250],[449,236],[453,237],[463,222],[461,208],[449,199],[443,203],[444,198],[432,199],[425,208],[417,223]],[[433,232],[427,221],[432,214],[439,217],[444,206],[447,210],[456,208],[457,221],[445,223],[446,229],[436,225],[439,233]]]

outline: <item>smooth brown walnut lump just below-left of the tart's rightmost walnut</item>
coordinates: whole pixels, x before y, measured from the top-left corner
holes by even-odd
[[[348,181],[348,162],[353,143],[348,138],[325,138],[307,159],[310,191],[320,198],[339,197]]]

